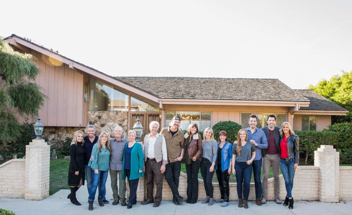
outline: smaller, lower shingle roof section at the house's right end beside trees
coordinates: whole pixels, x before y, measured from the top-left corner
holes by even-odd
[[[309,99],[309,107],[301,107],[300,110],[338,110],[338,111],[347,111],[347,109],[342,108],[336,103],[330,101],[324,96],[314,92],[310,89],[295,89],[297,93],[305,96]]]

